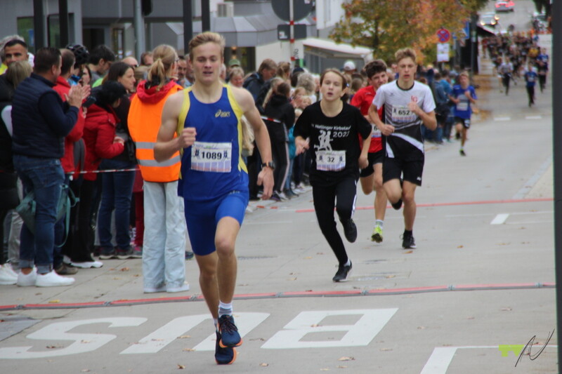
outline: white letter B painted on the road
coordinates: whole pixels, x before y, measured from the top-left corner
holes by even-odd
[[[262,348],[328,348],[358,347],[369,345],[371,340],[388,323],[398,308],[392,309],[358,309],[358,310],[327,310],[301,312],[285,326],[286,330],[278,331]],[[327,316],[360,315],[353,325],[319,325]],[[327,331],[347,331],[341,340],[301,341],[309,333]]]

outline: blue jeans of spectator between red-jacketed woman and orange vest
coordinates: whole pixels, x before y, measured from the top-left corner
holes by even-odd
[[[100,169],[134,168],[130,161],[103,160]],[[111,213],[115,209],[115,241],[119,249],[126,250],[131,246],[129,222],[131,196],[133,195],[134,171],[117,171],[102,173],[102,191],[100,213],[98,215],[98,234],[100,246],[111,248]]]

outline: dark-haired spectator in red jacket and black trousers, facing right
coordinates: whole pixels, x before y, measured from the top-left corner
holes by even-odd
[[[102,159],[111,159],[121,154],[124,150],[124,140],[115,135],[117,128],[117,114],[115,108],[119,106],[120,100],[126,90],[122,84],[110,81],[96,91],[96,103],[88,108],[86,123],[84,123],[84,142],[86,142],[86,157],[84,160],[84,171],[97,171]],[[88,243],[86,262],[93,262],[91,257],[93,249],[93,229],[91,221],[96,204],[93,204],[93,196],[96,195],[96,173],[85,173],[81,189],[81,208],[78,219],[78,230],[85,235]],[[73,259],[74,260],[74,259]]]

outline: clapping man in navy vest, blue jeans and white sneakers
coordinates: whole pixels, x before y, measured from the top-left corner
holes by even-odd
[[[83,88],[73,86],[63,104],[53,90],[62,60],[56,48],[40,48],[34,73],[16,88],[12,102],[13,163],[25,194],[34,194],[34,232],[22,228],[18,286],[68,286],[73,278],[53,271],[57,206],[64,173],[64,138],[76,124]],[[37,266],[37,272],[36,268]]]

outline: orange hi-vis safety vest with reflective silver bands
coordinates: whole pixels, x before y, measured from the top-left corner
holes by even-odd
[[[183,90],[173,86],[158,102],[143,102],[135,95],[129,108],[129,133],[136,145],[136,158],[143,180],[147,182],[174,182],[178,180],[181,166],[179,152],[171,159],[158,162],[154,158],[154,146],[162,123],[162,109],[169,95]]]

